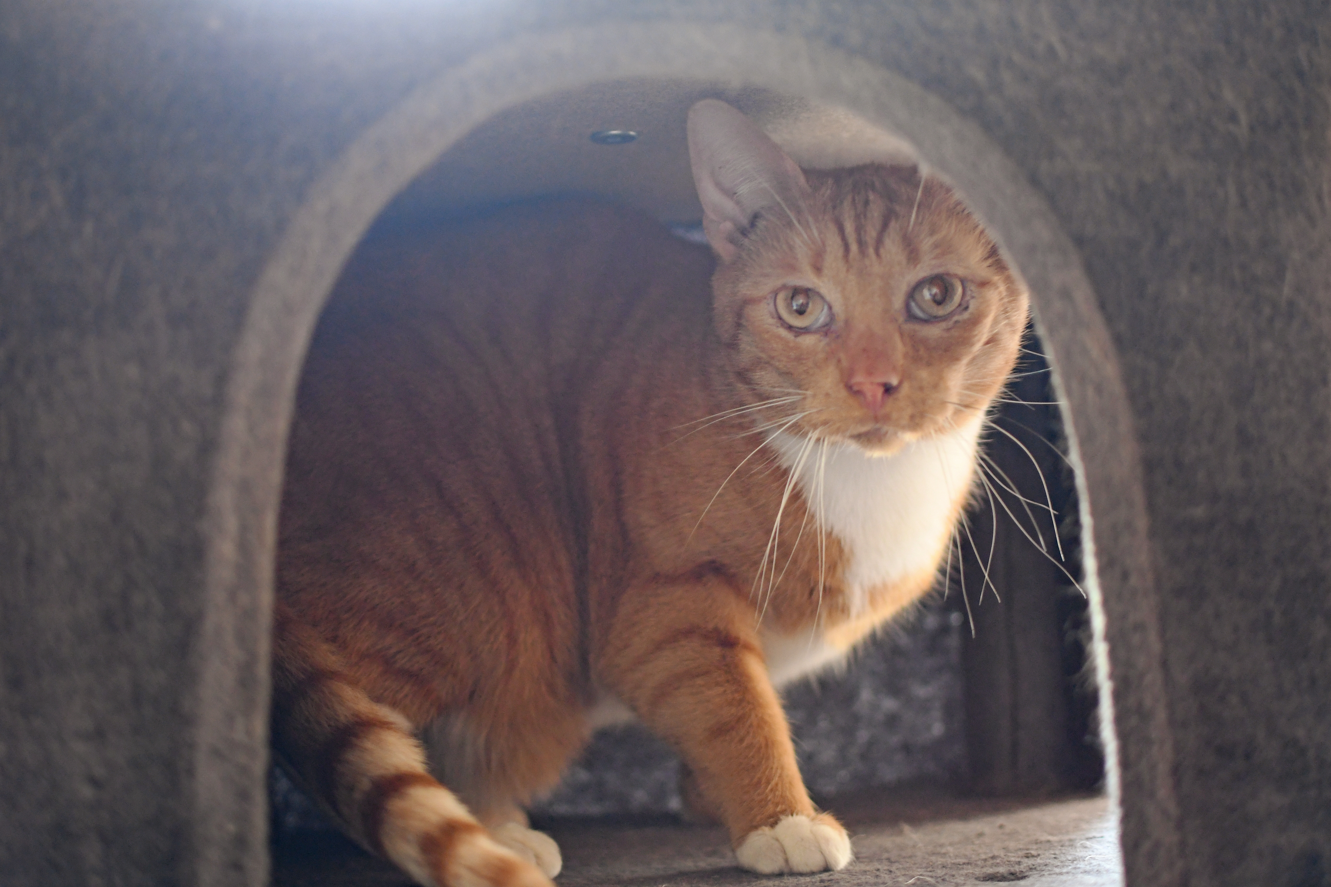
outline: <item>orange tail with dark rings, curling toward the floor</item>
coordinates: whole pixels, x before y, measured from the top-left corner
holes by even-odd
[[[347,834],[427,887],[551,887],[429,774],[402,714],[371,701],[282,604],[274,616],[277,754]]]

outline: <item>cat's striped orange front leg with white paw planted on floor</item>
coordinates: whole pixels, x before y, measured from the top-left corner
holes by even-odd
[[[809,801],[755,621],[721,576],[634,589],[608,633],[603,680],[684,758],[741,866],[843,868],[851,840]]]

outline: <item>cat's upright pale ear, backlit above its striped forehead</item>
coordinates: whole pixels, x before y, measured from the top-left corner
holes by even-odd
[[[735,258],[753,217],[779,207],[803,214],[809,185],[799,165],[757,124],[724,101],[688,109],[688,160],[703,202],[703,230],[723,262]]]

